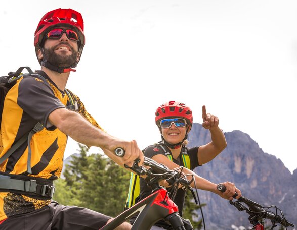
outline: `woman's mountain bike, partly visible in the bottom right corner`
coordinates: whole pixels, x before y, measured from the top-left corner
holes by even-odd
[[[219,184],[217,186],[217,189],[221,192],[226,191],[226,187],[222,184]],[[235,193],[233,198],[235,198],[236,196],[237,194]],[[271,230],[277,226],[277,223],[283,225],[285,229],[287,229],[288,226],[294,227],[294,224],[287,221],[287,219],[284,217],[283,212],[275,205],[264,207],[261,204],[258,204],[244,196],[239,197],[235,202],[230,200],[229,203],[234,205],[239,211],[246,211],[249,214],[248,220],[252,224],[251,229],[253,230],[264,230],[264,225],[262,224],[262,221],[264,219],[271,220]],[[270,211],[271,208],[275,208],[275,213],[273,211]],[[277,210],[280,211],[280,215],[277,214]]]

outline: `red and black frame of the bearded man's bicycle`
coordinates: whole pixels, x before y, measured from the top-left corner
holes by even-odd
[[[150,229],[154,223],[161,219],[169,221],[173,229],[193,229],[188,220],[184,220],[180,217],[178,207],[169,198],[167,190],[159,188],[150,196],[115,217],[100,230],[113,230],[137,213],[139,214],[131,228],[132,230]],[[185,228],[183,228],[184,224]]]

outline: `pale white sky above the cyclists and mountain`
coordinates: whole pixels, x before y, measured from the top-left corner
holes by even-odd
[[[205,105],[224,132],[297,168],[296,1],[2,1],[1,76],[40,69],[34,32],[57,8],[80,12],[86,35],[67,88],[108,133],[142,149],[160,140],[159,105],[184,102],[200,124]],[[70,138],[65,157],[77,149]]]

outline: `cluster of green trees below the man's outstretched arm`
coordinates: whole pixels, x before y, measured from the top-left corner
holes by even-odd
[[[55,182],[53,199],[64,205],[86,207],[109,216],[123,211],[130,173],[103,153],[88,155],[79,145],[80,155],[73,156],[64,171],[65,180]]]

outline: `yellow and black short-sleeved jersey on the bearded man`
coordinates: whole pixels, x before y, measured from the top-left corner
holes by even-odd
[[[49,114],[55,109],[70,105],[70,99],[74,98],[78,105],[77,112],[94,126],[100,129],[101,127],[76,95],[70,92],[72,98],[69,99],[45,72],[37,73],[48,82],[25,75],[7,93],[0,133],[2,157],[14,143],[29,133],[37,122],[43,124],[45,128],[34,134],[30,141],[32,174],[27,173],[27,142],[0,165],[0,172],[55,180],[61,175],[67,136],[48,122]],[[24,195],[0,192],[0,221],[15,214],[36,210],[49,202],[50,200],[36,200]]]

